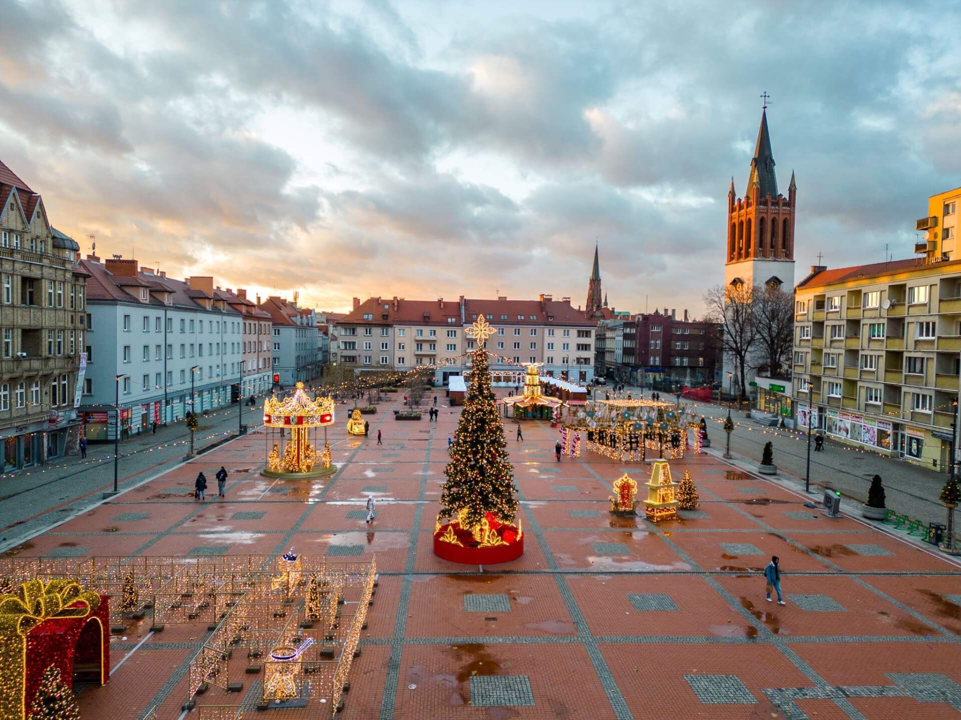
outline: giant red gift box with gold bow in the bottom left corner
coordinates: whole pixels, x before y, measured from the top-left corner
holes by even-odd
[[[25,720],[43,672],[74,668],[110,677],[110,600],[73,579],[30,580],[0,595],[0,718]]]

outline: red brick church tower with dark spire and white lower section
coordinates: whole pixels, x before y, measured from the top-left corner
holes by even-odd
[[[794,289],[794,217],[798,187],[791,173],[787,197],[777,192],[775,158],[768,132],[767,106],[751,160],[748,189],[743,198],[727,192],[727,266],[725,282],[749,285],[774,283]]]

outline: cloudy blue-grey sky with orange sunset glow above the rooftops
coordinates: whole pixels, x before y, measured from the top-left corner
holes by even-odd
[[[723,279],[768,110],[798,279],[961,184],[950,2],[0,0],[0,159],[88,252],[321,309]]]

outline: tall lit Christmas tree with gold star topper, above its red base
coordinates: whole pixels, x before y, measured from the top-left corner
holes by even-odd
[[[477,324],[471,333],[480,348],[474,351],[470,386],[457,423],[451,462],[444,468],[447,482],[440,496],[438,518],[455,517],[462,530],[480,527],[486,514],[499,523],[513,523],[517,513],[514,468],[507,460],[504,424],[490,388],[490,369],[483,341],[490,326]]]

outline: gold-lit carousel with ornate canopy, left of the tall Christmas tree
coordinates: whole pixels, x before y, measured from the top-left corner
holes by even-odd
[[[333,425],[333,398],[310,399],[304,383],[297,383],[293,395],[271,396],[263,404],[267,428],[265,477],[305,478],[333,475],[331,445],[327,427]],[[317,452],[317,429],[324,428],[324,449]],[[283,445],[283,450],[281,449]]]

